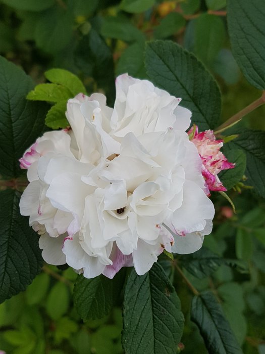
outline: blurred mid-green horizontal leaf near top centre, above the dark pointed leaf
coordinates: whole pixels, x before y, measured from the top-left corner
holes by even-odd
[[[105,38],[121,39],[125,42],[144,41],[143,33],[127,18],[104,17],[100,33]]]

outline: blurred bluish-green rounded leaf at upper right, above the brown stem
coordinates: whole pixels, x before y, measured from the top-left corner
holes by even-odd
[[[213,63],[213,69],[227,84],[232,85],[239,81],[240,70],[230,50],[222,48]]]

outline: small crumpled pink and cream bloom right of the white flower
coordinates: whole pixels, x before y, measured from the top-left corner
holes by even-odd
[[[223,140],[216,140],[213,130],[205,130],[198,132],[197,125],[188,131],[190,141],[198,149],[202,161],[202,175],[205,179],[205,193],[209,191],[225,192],[226,188],[218,178],[218,173],[223,169],[234,168],[235,164],[227,160],[225,155],[220,151],[223,146]]]

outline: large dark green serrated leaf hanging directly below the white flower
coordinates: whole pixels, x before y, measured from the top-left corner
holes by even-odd
[[[175,354],[184,318],[175,289],[160,264],[127,280],[123,303],[123,347],[128,353]]]

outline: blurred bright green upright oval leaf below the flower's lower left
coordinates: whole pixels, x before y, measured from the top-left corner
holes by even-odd
[[[46,300],[46,311],[52,320],[59,320],[67,313],[69,307],[69,290],[62,283],[56,283],[50,290]]]

